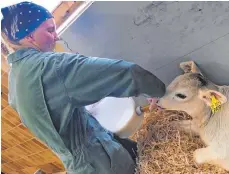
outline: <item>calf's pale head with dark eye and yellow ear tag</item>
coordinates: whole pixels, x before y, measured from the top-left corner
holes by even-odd
[[[219,92],[218,86],[205,78],[194,62],[183,62],[180,67],[185,74],[176,77],[167,87],[158,105],[168,110],[185,111],[192,117],[209,115],[211,99],[214,96],[221,104],[227,98]]]

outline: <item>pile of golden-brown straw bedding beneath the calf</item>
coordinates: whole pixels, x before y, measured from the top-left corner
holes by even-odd
[[[191,119],[176,111],[146,113],[142,127],[131,137],[138,142],[136,174],[226,174],[213,165],[197,165],[193,152],[204,147],[199,137],[179,131],[172,121]]]

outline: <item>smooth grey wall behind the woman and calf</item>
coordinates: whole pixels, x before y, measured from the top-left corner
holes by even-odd
[[[133,61],[168,84],[194,60],[229,84],[229,2],[94,2],[63,34],[88,56]]]

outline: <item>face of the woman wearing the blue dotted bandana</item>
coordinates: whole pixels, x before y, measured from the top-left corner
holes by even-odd
[[[58,36],[56,24],[53,18],[43,22],[32,34],[32,44],[35,44],[41,51],[53,51]]]

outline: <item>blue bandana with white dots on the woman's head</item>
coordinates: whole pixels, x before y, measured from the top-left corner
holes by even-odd
[[[13,42],[18,42],[35,31],[44,21],[53,18],[47,9],[32,2],[5,7],[1,12],[2,32]]]

